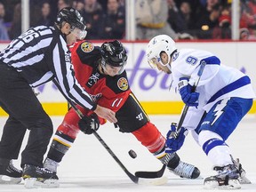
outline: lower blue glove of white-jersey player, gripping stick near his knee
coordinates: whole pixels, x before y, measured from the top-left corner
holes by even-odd
[[[176,135],[177,124],[171,125],[171,130],[167,132],[165,141],[165,153],[174,153],[179,150],[188,134],[188,130],[184,127],[180,128],[180,132]]]

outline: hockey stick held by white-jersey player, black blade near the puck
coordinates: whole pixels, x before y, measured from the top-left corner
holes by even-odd
[[[205,61],[204,60],[201,61],[200,68],[199,68],[199,70],[197,72],[197,76],[196,76],[196,82],[192,87],[192,92],[196,92],[196,87],[199,84],[201,76],[203,75],[205,65],[206,65]],[[189,106],[185,105],[185,107],[182,110],[182,113],[181,113],[181,116],[180,116],[180,121],[177,125],[176,132],[173,134],[174,138],[177,138],[178,135],[179,135],[180,128],[181,128],[181,126],[184,122],[184,119],[185,119],[185,117],[188,113],[188,108],[189,108]],[[135,172],[135,175],[137,177],[140,177],[140,178],[160,178],[160,177],[163,176],[165,168],[166,168],[166,165],[164,164],[159,171],[156,171],[156,172]]]

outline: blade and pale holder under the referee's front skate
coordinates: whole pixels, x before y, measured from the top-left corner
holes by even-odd
[[[36,178],[27,178],[24,183],[25,188],[59,188],[59,180],[40,181]]]

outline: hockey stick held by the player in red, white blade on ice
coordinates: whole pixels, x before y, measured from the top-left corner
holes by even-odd
[[[53,83],[59,88],[60,92],[62,93],[62,95],[65,97],[65,99],[68,101],[69,105],[74,108],[74,110],[76,111],[77,116],[79,116],[81,119],[83,118],[83,113],[79,110],[79,108],[76,108],[76,105],[74,104],[74,102],[72,102],[60,89],[60,84],[53,79],[52,80]],[[115,153],[111,150],[111,148],[108,147],[107,143],[100,137],[100,135],[98,134],[98,132],[93,132],[94,136],[97,138],[97,140],[100,141],[101,145],[107,149],[108,153],[110,154],[110,156],[112,156],[116,163],[119,164],[119,166],[123,169],[123,171],[126,173],[126,175],[132,180],[132,182],[137,183],[137,184],[151,184],[151,185],[162,185],[164,183],[167,182],[167,180],[165,178],[163,178],[162,180],[149,180],[148,182],[146,180],[139,180],[139,177],[133,175],[131,172],[129,172],[126,167],[124,166],[124,164],[119,160],[119,158],[115,155]],[[153,178],[152,178],[153,179]]]

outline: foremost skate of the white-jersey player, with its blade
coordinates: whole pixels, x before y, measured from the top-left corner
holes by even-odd
[[[239,189],[241,188],[239,182],[239,172],[235,164],[228,164],[220,167],[215,166],[213,170],[218,174],[204,179],[204,188],[216,189]]]

